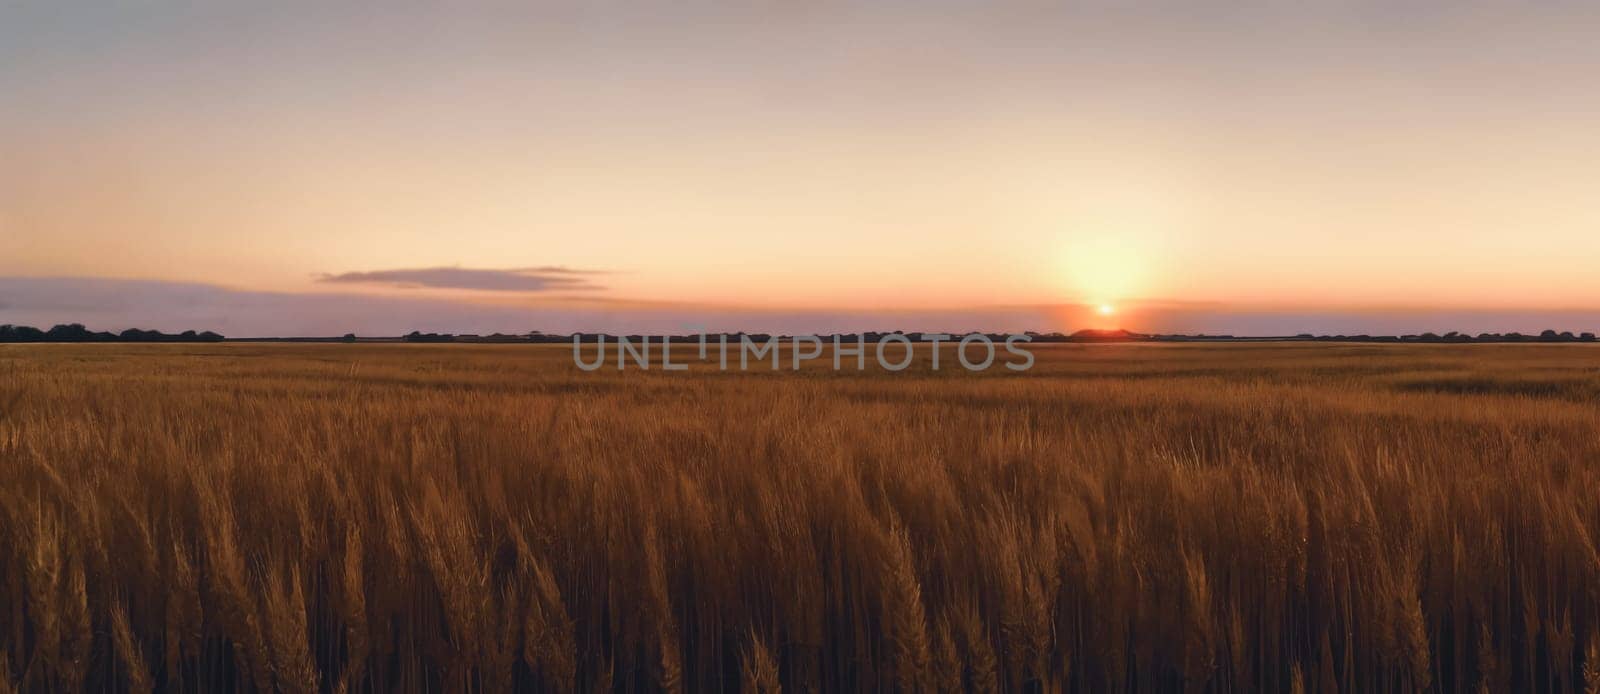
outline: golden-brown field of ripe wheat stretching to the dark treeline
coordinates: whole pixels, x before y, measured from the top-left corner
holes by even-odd
[[[1600,349],[918,349],[0,345],[0,691],[1600,691]]]

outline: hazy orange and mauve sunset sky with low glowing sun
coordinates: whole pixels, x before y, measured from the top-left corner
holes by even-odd
[[[0,3],[0,323],[1600,328],[1578,2]]]

